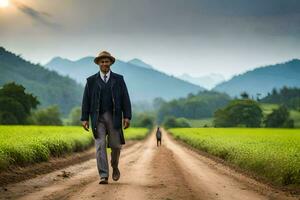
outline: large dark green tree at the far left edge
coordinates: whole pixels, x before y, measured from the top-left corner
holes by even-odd
[[[27,124],[31,110],[40,102],[15,82],[0,89],[0,124]]]

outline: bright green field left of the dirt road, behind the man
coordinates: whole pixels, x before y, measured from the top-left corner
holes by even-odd
[[[139,140],[148,132],[146,128],[129,128],[124,134],[126,139]],[[92,133],[77,126],[0,126],[0,170],[47,161],[92,144]]]

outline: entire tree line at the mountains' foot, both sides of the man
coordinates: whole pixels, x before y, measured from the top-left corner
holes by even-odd
[[[156,109],[147,112],[133,112],[132,126],[151,128],[154,124],[165,127],[190,127],[189,119],[213,117],[215,127],[294,127],[289,109],[298,108],[290,102],[297,102],[300,89],[282,88],[273,90],[264,99],[250,99],[246,92],[231,99],[225,93],[201,91],[169,102],[156,98]],[[288,98],[284,97],[285,95]],[[279,100],[277,100],[278,98]],[[293,101],[291,101],[293,99]],[[280,103],[277,109],[264,116],[260,102]],[[14,82],[0,88],[0,124],[36,125],[80,125],[80,106],[73,107],[67,118],[61,118],[58,105],[38,108],[40,101],[25,92],[22,85]]]

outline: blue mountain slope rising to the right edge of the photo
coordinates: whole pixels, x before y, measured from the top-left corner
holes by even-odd
[[[250,96],[267,95],[273,88],[300,86],[300,60],[259,67],[246,73],[234,76],[228,81],[218,84],[213,90],[226,92],[231,96],[239,96],[246,91]]]

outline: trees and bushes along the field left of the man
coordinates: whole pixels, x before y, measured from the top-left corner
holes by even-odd
[[[10,82],[0,88],[0,124],[63,125],[58,105],[38,108],[40,101],[25,91],[25,87]],[[80,107],[74,107],[66,119],[67,125],[80,124]]]

